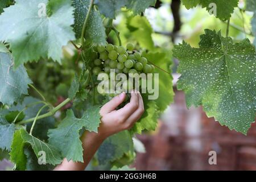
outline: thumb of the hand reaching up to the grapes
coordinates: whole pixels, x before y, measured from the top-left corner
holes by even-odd
[[[108,114],[111,111],[115,110],[117,106],[119,106],[120,104],[122,104],[123,101],[125,101],[125,96],[126,96],[125,92],[122,92],[118,96],[115,96],[114,98],[112,98],[112,100],[110,100],[104,106],[101,107],[100,114],[101,115]]]

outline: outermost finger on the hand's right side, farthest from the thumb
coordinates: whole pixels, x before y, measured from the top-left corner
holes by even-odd
[[[135,112],[133,114],[131,114],[131,116],[127,119],[126,123],[127,123],[127,128],[130,128],[134,125],[135,122],[137,122],[139,120],[139,118],[141,118],[142,114],[144,113],[144,103],[143,103],[143,99],[140,93],[138,93],[138,97],[139,97],[139,107],[137,110],[135,110]]]

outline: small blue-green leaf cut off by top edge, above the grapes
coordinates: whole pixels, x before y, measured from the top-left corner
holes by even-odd
[[[131,0],[96,0],[95,5],[98,6],[100,13],[106,16],[106,18],[114,19],[115,15],[121,10],[121,7],[129,5]]]

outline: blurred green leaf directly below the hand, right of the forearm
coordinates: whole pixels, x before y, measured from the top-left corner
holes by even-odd
[[[123,154],[129,151],[134,151],[133,138],[131,138],[131,134],[126,130],[107,138],[101,144],[96,156],[98,163],[101,165],[120,159]]]

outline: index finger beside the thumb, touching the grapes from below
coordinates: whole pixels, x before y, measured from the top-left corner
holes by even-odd
[[[135,110],[138,109],[139,102],[138,102],[138,94],[133,90],[131,92],[131,99],[128,104],[126,104],[121,109],[117,110],[117,114],[121,115],[123,119],[127,119],[130,117],[131,114],[134,113]]]

